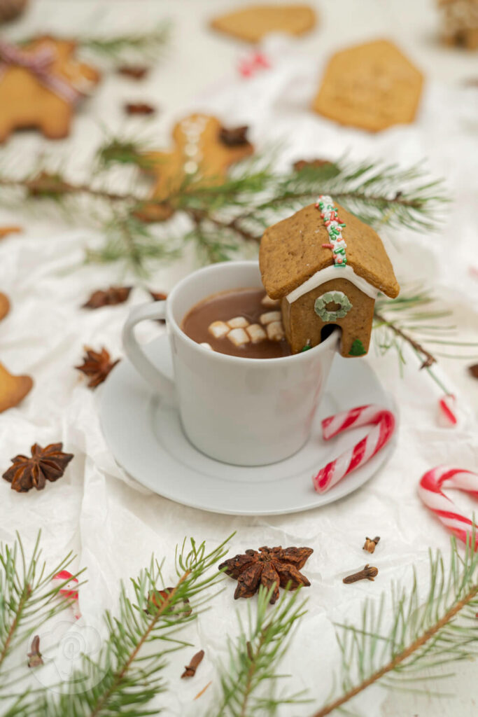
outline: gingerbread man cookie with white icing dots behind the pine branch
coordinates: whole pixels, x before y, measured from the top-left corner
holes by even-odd
[[[187,192],[199,184],[215,184],[226,176],[228,168],[253,153],[246,138],[247,127],[224,128],[218,119],[194,114],[178,122],[173,129],[173,148],[166,152],[148,152],[144,157],[148,174],[154,178],[150,198],[137,212],[145,222],[162,222],[174,212],[166,201],[181,189]]]

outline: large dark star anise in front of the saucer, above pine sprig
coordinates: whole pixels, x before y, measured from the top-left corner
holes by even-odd
[[[242,555],[225,560],[219,565],[219,570],[237,580],[234,599],[238,597],[252,597],[259,589],[259,585],[270,589],[274,585],[274,592],[270,602],[274,604],[279,597],[279,586],[295,590],[300,585],[308,587],[310,582],[300,569],[314,551],[312,548],[259,548],[247,550]]]

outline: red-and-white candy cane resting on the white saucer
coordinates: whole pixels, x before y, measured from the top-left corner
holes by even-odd
[[[380,406],[358,406],[330,416],[322,421],[322,436],[328,441],[348,428],[373,424],[371,432],[355,447],[345,451],[328,463],[312,478],[317,493],[325,493],[352,470],[363,465],[378,453],[391,439],[395,430],[395,417],[391,411]]]

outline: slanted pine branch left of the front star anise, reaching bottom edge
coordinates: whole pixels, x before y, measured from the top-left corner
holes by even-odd
[[[222,579],[211,568],[226,554],[227,541],[209,553],[205,543],[198,545],[191,538],[186,549],[185,541],[176,555],[176,582],[166,591],[162,566],[154,558],[131,581],[133,601],[122,585],[118,617],[105,613],[107,637],[100,656],[92,660],[85,655],[82,669],[63,685],[59,698],[44,693],[37,716],[156,714],[148,705],[166,689],[162,676],[166,656],[187,644],[176,633],[196,619],[211,599],[207,591]]]

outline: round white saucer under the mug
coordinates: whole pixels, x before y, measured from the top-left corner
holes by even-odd
[[[152,341],[146,353],[163,373],[173,377],[168,336]],[[272,515],[306,511],[343,498],[383,465],[393,451],[393,440],[328,493],[319,495],[312,488],[312,475],[369,430],[350,430],[324,442],[320,421],[368,403],[395,410],[364,361],[336,356],[310,440],[287,460],[261,467],[228,465],[196,450],[183,435],[176,409],[161,404],[127,359],[118,364],[103,386],[100,418],[115,459],[146,488],[204,511]]]

